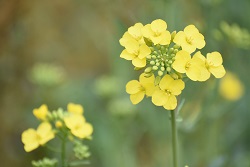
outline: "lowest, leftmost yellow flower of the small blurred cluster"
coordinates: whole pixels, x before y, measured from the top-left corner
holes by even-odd
[[[30,152],[40,145],[44,145],[49,140],[55,137],[52,127],[48,122],[41,123],[37,130],[28,129],[22,133],[22,142],[24,144],[24,150]]]

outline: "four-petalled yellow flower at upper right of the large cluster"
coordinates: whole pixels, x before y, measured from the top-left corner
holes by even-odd
[[[206,44],[204,36],[194,25],[189,25],[184,31],[179,31],[173,41],[188,53],[194,52],[196,48],[201,49]]]

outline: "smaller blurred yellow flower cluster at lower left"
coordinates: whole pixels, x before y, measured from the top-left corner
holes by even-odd
[[[24,150],[26,152],[33,151],[58,136],[64,143],[70,141],[75,147],[80,145],[79,148],[83,149],[78,149],[78,152],[81,152],[84,157],[79,156],[78,152],[75,157],[79,159],[86,158],[90,154],[87,146],[83,145],[82,141],[91,139],[93,127],[86,122],[83,112],[83,107],[74,103],[68,104],[67,111],[59,108],[50,112],[45,104],[34,109],[33,114],[41,123],[37,129],[29,128],[22,133]]]

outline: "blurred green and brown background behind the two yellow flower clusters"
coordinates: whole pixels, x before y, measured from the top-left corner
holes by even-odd
[[[155,19],[170,31],[196,25],[202,53],[219,51],[227,75],[187,82],[178,120],[180,166],[250,166],[249,0],[0,0],[0,162],[31,166],[51,155],[26,153],[21,133],[37,127],[32,110],[69,102],[94,126],[89,167],[172,166],[169,112],[125,85],[139,72],[119,57],[128,27]],[[52,156],[52,155],[51,155]]]

